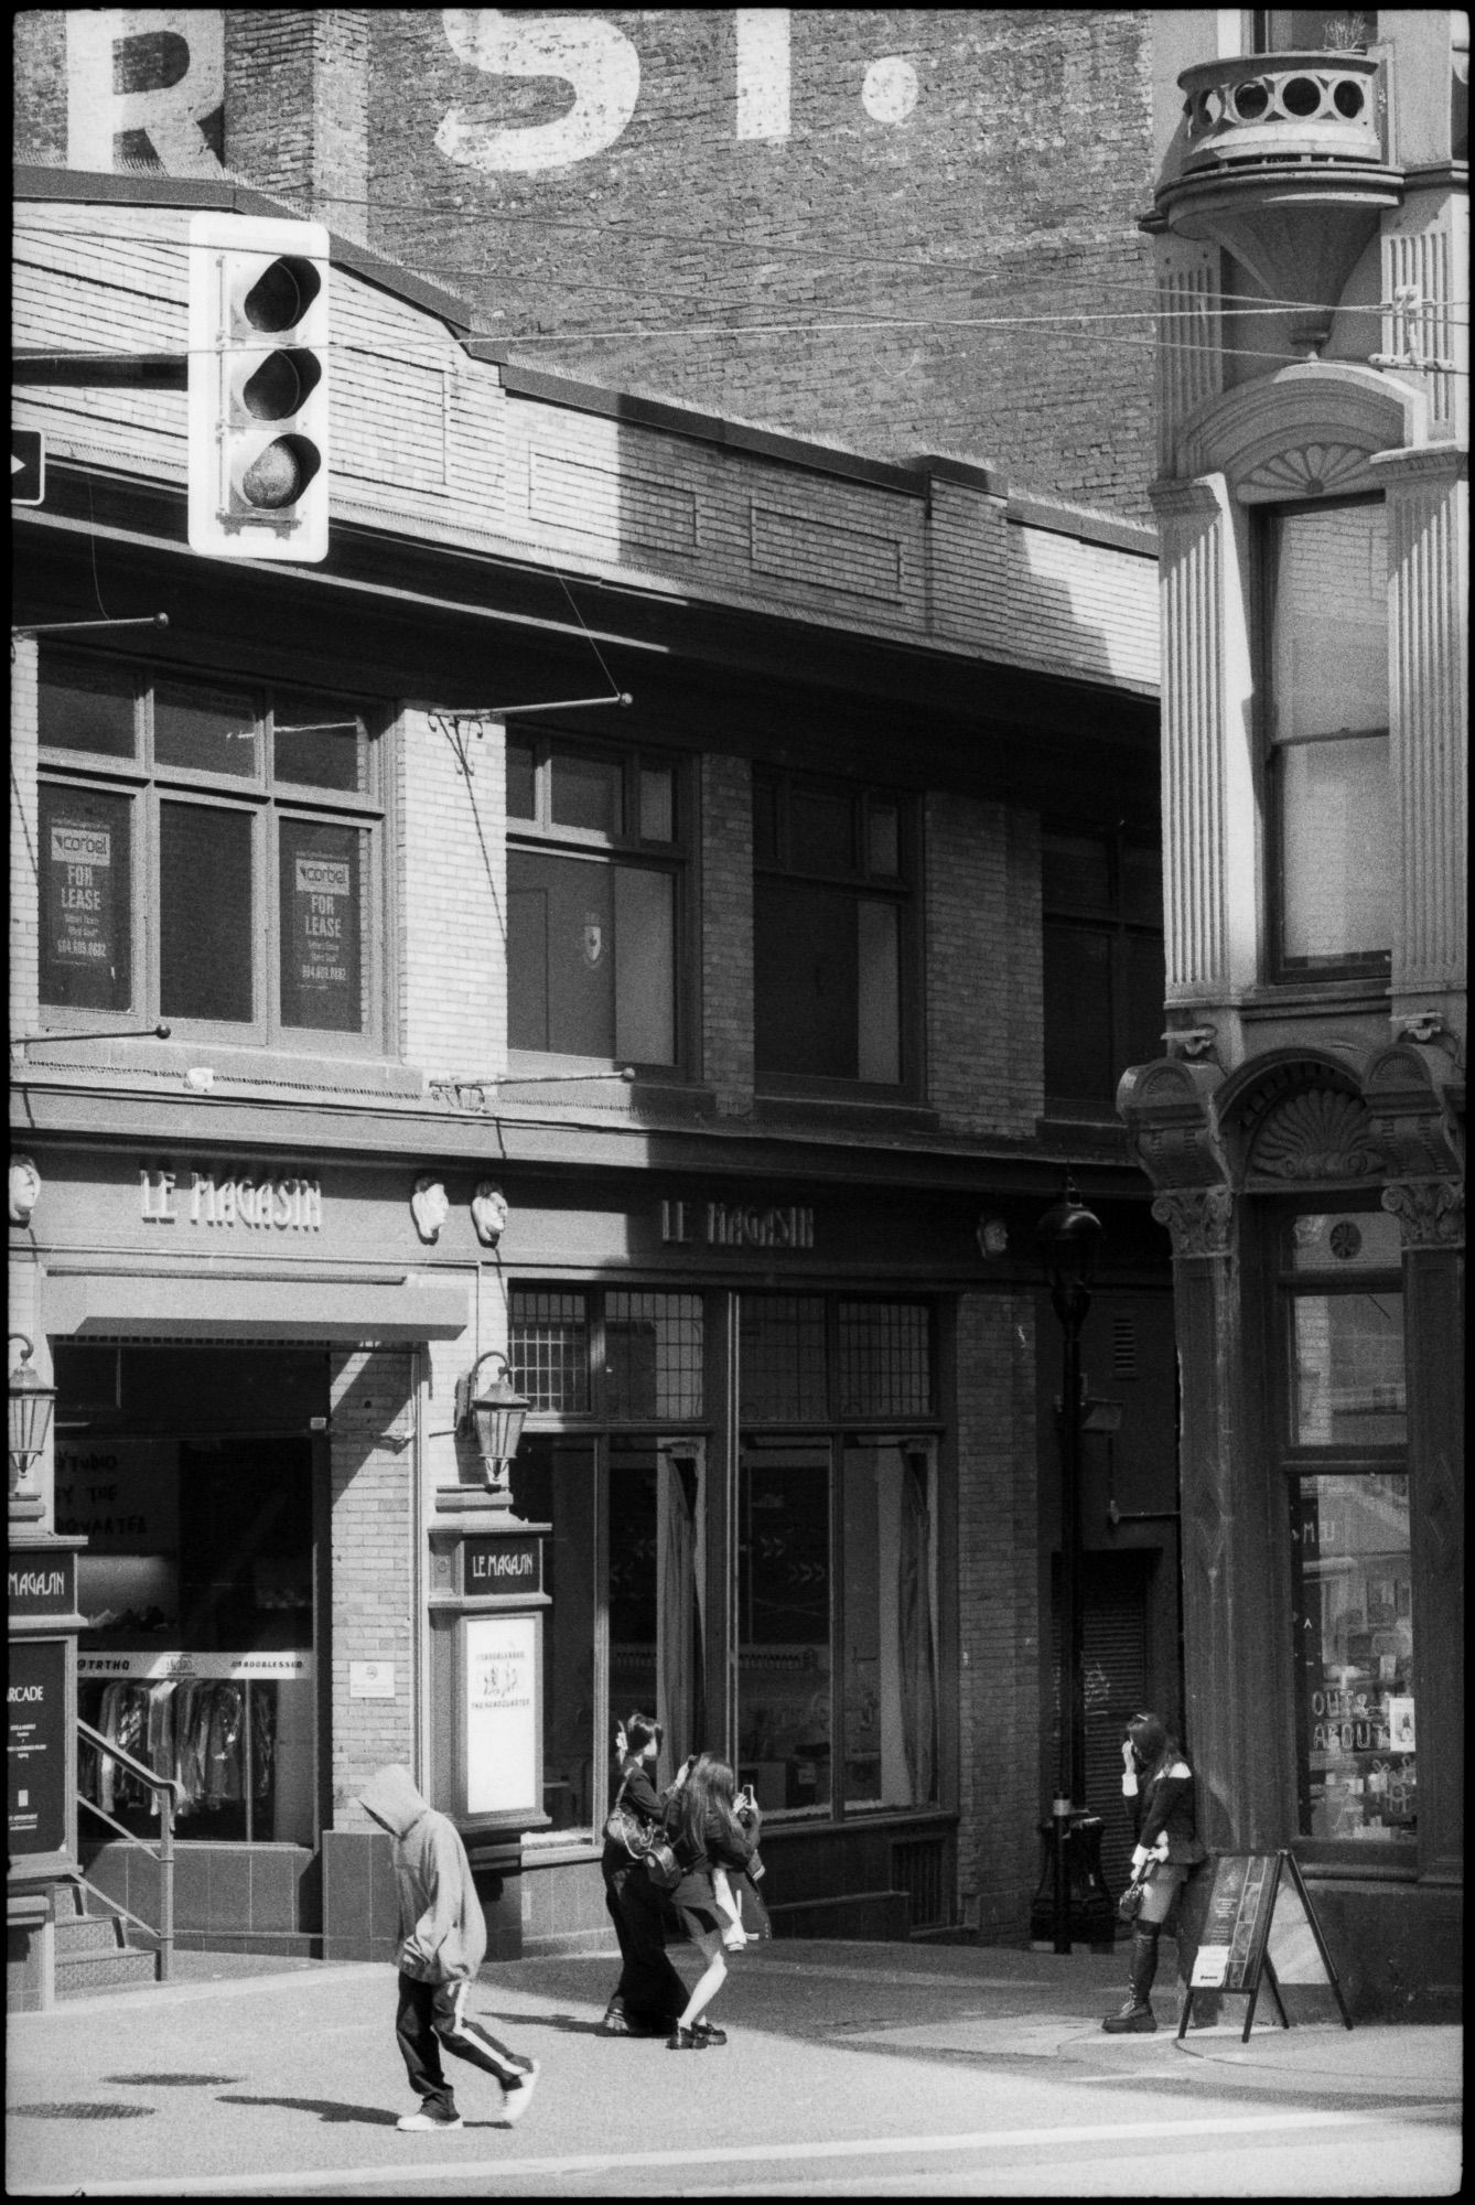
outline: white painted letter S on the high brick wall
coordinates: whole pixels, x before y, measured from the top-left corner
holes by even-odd
[[[520,9],[441,9],[452,51],[496,77],[562,77],[573,106],[556,123],[507,128],[450,108],[434,135],[448,161],[483,170],[569,168],[613,146],[639,99],[639,55],[600,15],[525,15]]]

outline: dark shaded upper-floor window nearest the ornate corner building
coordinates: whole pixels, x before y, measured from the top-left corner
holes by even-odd
[[[1124,833],[1045,831],[1045,1102],[1109,1111],[1127,1065],[1162,1056],[1162,858]]]

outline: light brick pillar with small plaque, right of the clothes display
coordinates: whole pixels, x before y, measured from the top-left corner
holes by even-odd
[[[370,1828],[357,1793],[414,1768],[414,1358],[333,1354],[333,1821]],[[392,1663],[392,1700],[355,1700],[348,1665]]]

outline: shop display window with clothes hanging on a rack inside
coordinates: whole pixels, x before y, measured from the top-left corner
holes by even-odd
[[[176,1837],[315,1841],[317,1491],[326,1352],[57,1341],[57,1530],[84,1535],[77,1713],[181,1786]],[[282,1429],[293,1424],[293,1429]],[[82,1826],[157,1799],[79,1749]]]

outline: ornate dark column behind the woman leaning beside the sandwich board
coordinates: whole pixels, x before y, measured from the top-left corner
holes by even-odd
[[[1184,1691],[1199,1830],[1219,1850],[1285,1841],[1279,1612],[1259,1391],[1246,1380],[1235,1195],[1166,1188],[1182,1372]]]

